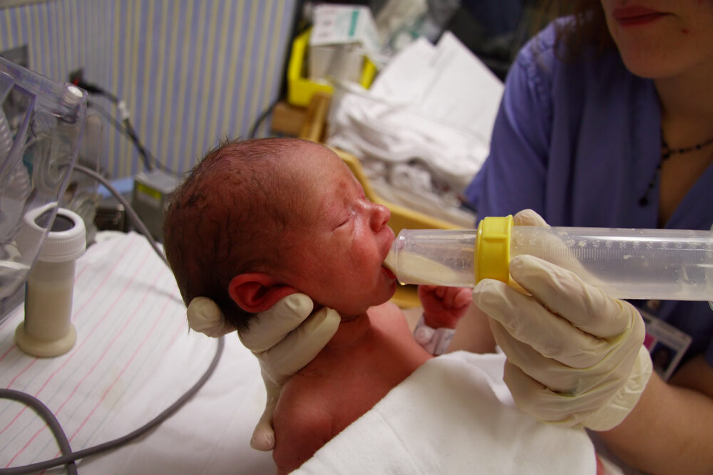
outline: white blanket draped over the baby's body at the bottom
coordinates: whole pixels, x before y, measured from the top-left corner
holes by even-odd
[[[503,355],[429,360],[295,474],[595,474],[583,429],[521,412]]]

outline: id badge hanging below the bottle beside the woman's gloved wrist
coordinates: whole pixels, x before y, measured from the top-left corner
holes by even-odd
[[[651,354],[654,371],[667,381],[691,345],[692,338],[645,310],[639,309],[639,313],[646,324],[644,346]]]

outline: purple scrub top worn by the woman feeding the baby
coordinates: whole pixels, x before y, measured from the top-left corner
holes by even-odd
[[[560,61],[550,24],[508,72],[491,153],[466,197],[480,217],[531,208],[551,226],[657,228],[658,180],[646,206],[640,198],[660,162],[660,120],[652,80],[630,73],[615,49]],[[712,224],[710,165],[665,228]],[[707,302],[650,303],[646,310],[692,336],[684,360],[704,353],[713,365]]]

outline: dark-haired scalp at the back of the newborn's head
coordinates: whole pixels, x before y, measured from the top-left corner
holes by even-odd
[[[279,262],[279,233],[294,217],[294,193],[279,171],[299,145],[289,139],[224,142],[175,191],[164,244],[187,305],[209,297],[230,323],[245,328],[250,313],[230,298],[228,283],[239,273]]]

